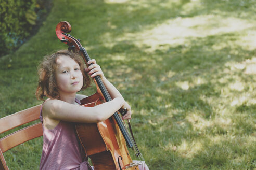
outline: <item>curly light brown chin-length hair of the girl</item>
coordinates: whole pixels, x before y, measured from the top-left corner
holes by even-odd
[[[60,50],[53,53],[52,55],[46,55],[37,68],[39,74],[39,82],[35,93],[37,99],[44,100],[44,96],[47,96],[48,98],[59,99],[59,89],[56,82],[55,70],[57,68],[56,60],[61,55],[69,56],[79,64],[83,75],[83,86],[81,90],[90,87],[91,78],[84,70],[85,66],[81,56],[78,53],[71,52],[70,50]]]

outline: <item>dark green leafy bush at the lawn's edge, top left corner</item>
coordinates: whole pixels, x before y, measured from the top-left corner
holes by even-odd
[[[45,11],[42,0],[4,0],[0,3],[0,56],[19,47],[31,35]],[[46,12],[44,12],[46,13]]]

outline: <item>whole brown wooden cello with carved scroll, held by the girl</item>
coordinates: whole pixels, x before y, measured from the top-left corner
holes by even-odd
[[[67,34],[71,32],[71,25],[66,21],[59,22],[55,31],[61,42],[69,46],[69,50],[80,53],[88,67],[87,62],[91,59],[86,49],[81,45],[80,39],[75,39],[70,34]],[[112,100],[101,78],[95,76],[93,80],[97,91],[95,94],[81,100],[82,106],[94,107]],[[120,109],[109,119],[99,123],[75,124],[76,133],[86,157],[91,159],[95,170],[138,170],[139,164],[142,164],[142,167],[144,167],[145,161],[135,143],[130,124],[131,134],[127,131],[127,127],[122,121],[120,114],[125,114],[125,109]],[[139,162],[132,161],[126,144],[129,148],[133,148],[136,156],[140,159]]]

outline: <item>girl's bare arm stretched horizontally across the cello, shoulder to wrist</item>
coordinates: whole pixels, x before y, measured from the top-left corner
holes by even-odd
[[[43,115],[49,119],[78,123],[97,123],[108,119],[124,105],[121,97],[116,97],[95,107],[69,104],[61,100],[47,100],[43,105]]]

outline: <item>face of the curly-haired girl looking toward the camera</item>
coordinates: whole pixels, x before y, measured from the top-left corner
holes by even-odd
[[[83,75],[79,64],[69,56],[61,55],[56,59],[57,68],[55,72],[59,94],[70,94],[81,90],[83,86]]]

